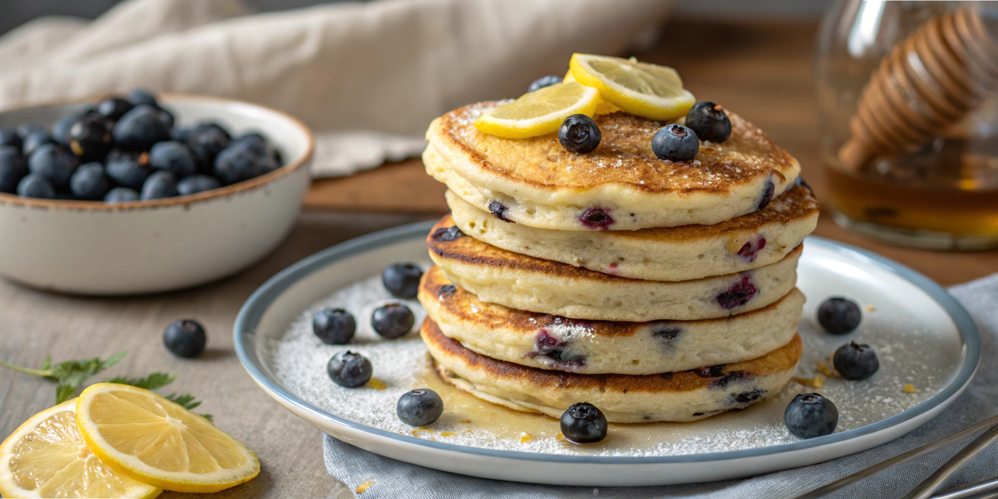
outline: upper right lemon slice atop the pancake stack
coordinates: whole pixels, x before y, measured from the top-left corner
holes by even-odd
[[[596,88],[624,111],[652,120],[675,120],[697,102],[673,68],[590,54],[573,54],[569,68],[575,81]]]

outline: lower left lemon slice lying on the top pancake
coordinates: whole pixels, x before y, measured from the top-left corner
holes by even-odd
[[[556,83],[482,113],[475,127],[506,139],[553,134],[569,116],[593,116],[599,96],[595,88],[578,82]]]

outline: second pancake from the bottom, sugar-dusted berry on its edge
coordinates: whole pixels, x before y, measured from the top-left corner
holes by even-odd
[[[438,266],[423,273],[419,301],[447,337],[499,360],[585,374],[655,374],[749,360],[793,338],[804,295],[732,317],[614,322],[577,320],[485,303]]]

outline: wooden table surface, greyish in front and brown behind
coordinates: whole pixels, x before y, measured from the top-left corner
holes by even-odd
[[[725,26],[673,23],[663,41],[640,59],[673,66],[701,99],[737,111],[769,134],[803,165],[804,177],[821,198],[824,182],[817,157],[811,83],[813,24]],[[551,68],[552,74],[564,68]],[[347,239],[446,212],[442,185],[423,173],[418,160],[386,165],[354,177],[315,183],[306,210],[290,237],[250,269],[195,289],[125,298],[51,294],[0,281],[0,359],[36,367],[54,360],[105,356],[127,349],[109,370],[179,375],[171,389],[205,400],[217,424],[256,451],[262,472],[219,498],[352,497],[326,475],[321,439],[259,390],[245,373],[232,344],[233,323],[250,293],[280,268]],[[998,251],[935,252],[881,245],[845,232],[822,217],[816,233],[867,248],[906,263],[944,285],[998,271]],[[182,317],[201,320],[209,349],[182,360],[162,346],[163,329]],[[95,379],[95,380],[99,380]],[[53,383],[0,369],[0,437],[52,405]],[[200,497],[164,493],[164,499]]]

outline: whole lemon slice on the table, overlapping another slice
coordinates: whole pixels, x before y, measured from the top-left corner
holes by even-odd
[[[76,422],[109,467],[167,490],[216,492],[259,473],[256,456],[239,440],[143,388],[89,386],[77,399]]]

